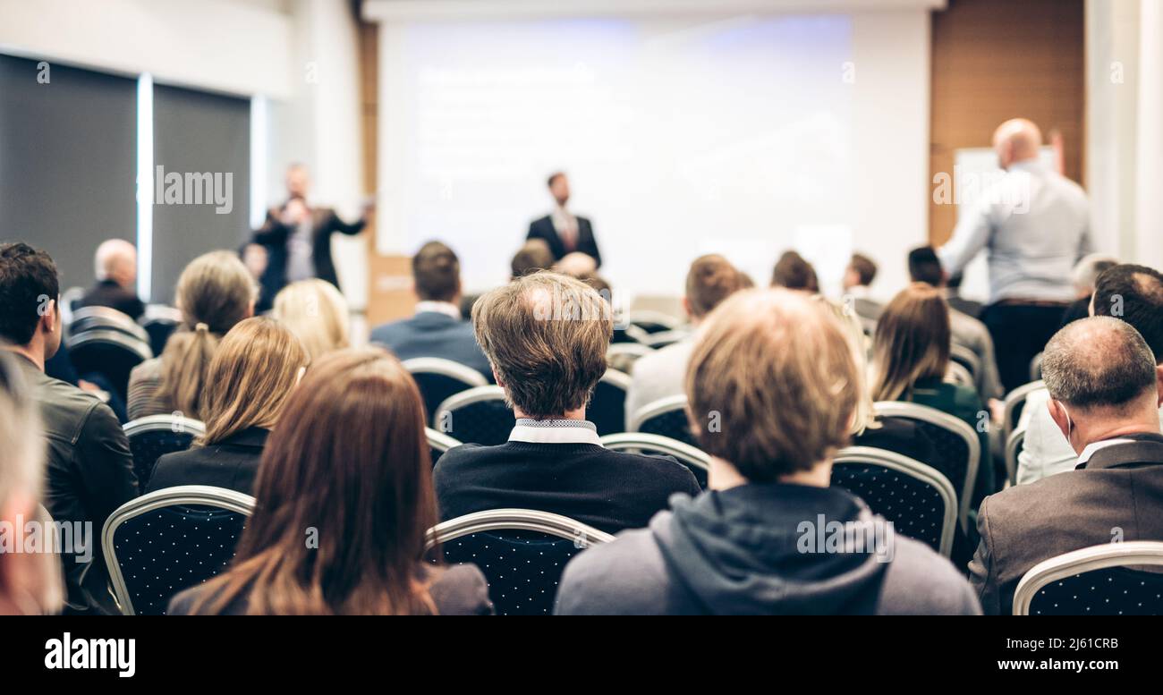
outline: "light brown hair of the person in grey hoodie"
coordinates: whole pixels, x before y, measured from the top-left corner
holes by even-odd
[[[829,310],[786,289],[728,298],[707,316],[686,371],[699,444],[752,482],[808,471],[847,444],[859,384]]]

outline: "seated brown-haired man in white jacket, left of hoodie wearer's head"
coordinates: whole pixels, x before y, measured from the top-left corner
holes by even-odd
[[[700,256],[686,273],[686,296],[683,309],[698,328],[702,318],[725,299],[743,288],[742,277],[722,256]],[[686,363],[694,349],[693,334],[686,338],[638,358],[634,363],[633,384],[626,394],[626,427],[643,406],[658,399],[686,392]]]

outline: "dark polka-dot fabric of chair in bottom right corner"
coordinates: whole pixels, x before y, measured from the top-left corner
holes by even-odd
[[[1163,615],[1163,574],[1107,567],[1051,581],[1029,615]]]

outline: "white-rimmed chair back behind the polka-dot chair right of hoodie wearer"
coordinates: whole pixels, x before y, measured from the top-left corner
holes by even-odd
[[[877,401],[878,417],[893,417],[913,423],[933,442],[936,459],[921,461],[949,479],[957,494],[957,520],[969,529],[969,506],[977,481],[982,443],[973,428],[936,408],[902,401]]]

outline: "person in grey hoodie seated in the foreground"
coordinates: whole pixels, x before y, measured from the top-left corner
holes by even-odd
[[[793,292],[715,309],[686,377],[709,489],[578,554],[556,612],[980,615],[947,559],[829,487],[864,389],[851,350]]]

